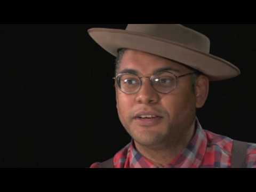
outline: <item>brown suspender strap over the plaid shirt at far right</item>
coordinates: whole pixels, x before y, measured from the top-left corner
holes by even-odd
[[[234,140],[231,156],[231,168],[247,167],[247,148],[248,143]]]

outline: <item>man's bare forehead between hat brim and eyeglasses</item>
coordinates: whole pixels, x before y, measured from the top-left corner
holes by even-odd
[[[142,74],[150,74],[161,68],[168,68],[175,73],[188,71],[188,68],[181,63],[136,50],[125,51],[120,62],[119,71],[132,69]]]

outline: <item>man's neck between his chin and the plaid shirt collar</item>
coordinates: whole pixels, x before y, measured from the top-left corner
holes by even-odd
[[[169,165],[188,146],[195,133],[195,121],[186,133],[180,134],[179,139],[161,144],[159,146],[142,146],[134,141],[136,149],[141,155],[149,159],[154,165],[164,167]]]

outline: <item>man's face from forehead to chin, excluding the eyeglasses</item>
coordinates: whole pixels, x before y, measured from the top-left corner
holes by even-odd
[[[141,77],[151,76],[161,68],[172,68],[173,71],[169,71],[177,76],[193,72],[177,62],[135,50],[125,52],[117,72],[132,69]],[[158,93],[149,78],[142,78],[138,93],[125,94],[116,87],[116,101],[123,126],[134,142],[142,146],[179,142],[191,132],[196,116],[196,96],[191,88],[191,76],[180,78],[177,88],[167,94]],[[140,118],[141,115],[156,117]]]

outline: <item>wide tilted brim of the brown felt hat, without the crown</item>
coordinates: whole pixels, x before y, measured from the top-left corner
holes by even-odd
[[[236,66],[226,60],[162,38],[120,29],[92,28],[88,33],[115,57],[121,48],[148,52],[201,71],[210,81],[222,81],[241,74]]]

